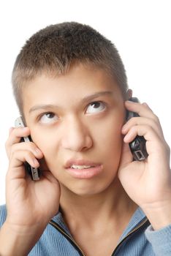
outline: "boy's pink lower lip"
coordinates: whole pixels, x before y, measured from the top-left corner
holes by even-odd
[[[102,165],[88,169],[67,168],[66,171],[74,178],[93,178],[102,172]]]

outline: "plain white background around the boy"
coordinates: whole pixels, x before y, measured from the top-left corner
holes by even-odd
[[[159,116],[167,143],[170,136],[171,1],[1,1],[0,4],[0,204],[5,202],[4,149],[18,110],[11,72],[20,48],[34,32],[64,21],[86,23],[118,48],[134,96]]]

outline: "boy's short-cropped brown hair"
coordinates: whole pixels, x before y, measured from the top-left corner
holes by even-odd
[[[28,39],[15,61],[12,87],[20,112],[24,83],[41,72],[64,74],[77,63],[105,69],[116,79],[123,94],[126,92],[126,71],[115,45],[91,26],[76,22],[58,23],[41,29]]]

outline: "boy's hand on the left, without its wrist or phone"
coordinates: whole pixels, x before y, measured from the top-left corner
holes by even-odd
[[[49,170],[41,169],[39,181],[32,181],[26,173],[23,162],[39,167],[42,151],[33,142],[21,142],[22,137],[30,135],[26,128],[12,128],[6,142],[9,168],[6,176],[6,223],[13,230],[29,230],[41,233],[50,219],[58,212],[60,186]],[[23,229],[24,227],[24,229]],[[42,230],[42,231],[41,231]]]

